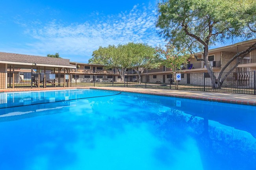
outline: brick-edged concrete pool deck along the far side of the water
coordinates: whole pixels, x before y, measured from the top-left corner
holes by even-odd
[[[205,91],[184,91],[166,89],[145,89],[145,88],[125,88],[125,87],[88,87],[88,88],[33,88],[33,89],[2,89],[0,92],[12,91],[38,91],[38,90],[65,90],[65,89],[101,89],[126,91],[142,94],[161,95],[185,99],[197,99],[203,101],[217,101],[236,104],[247,104],[256,106],[256,95],[233,94],[233,93],[214,93]]]

